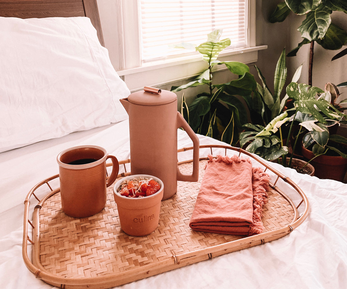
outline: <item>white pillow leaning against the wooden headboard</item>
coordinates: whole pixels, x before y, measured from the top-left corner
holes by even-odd
[[[0,152],[128,118],[87,17],[0,17]]]

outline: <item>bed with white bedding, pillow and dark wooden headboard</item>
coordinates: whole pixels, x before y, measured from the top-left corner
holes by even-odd
[[[0,288],[53,288],[22,257],[24,200],[58,173],[56,157],[68,147],[99,145],[118,160],[130,159],[128,116],[118,101],[130,92],[101,45],[96,1],[0,1],[0,7],[6,39],[0,44]],[[177,133],[178,161],[188,160],[183,148],[192,141],[185,131]],[[202,146],[226,145],[198,137]],[[209,151],[201,149],[200,156]],[[346,288],[347,184],[268,165],[307,196],[309,212],[300,226],[279,239],[119,288]],[[284,182],[278,186],[291,194]]]

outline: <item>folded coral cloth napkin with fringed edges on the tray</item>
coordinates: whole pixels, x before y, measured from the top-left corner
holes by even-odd
[[[270,177],[252,168],[248,158],[209,155],[189,226],[196,231],[255,235],[261,220]]]

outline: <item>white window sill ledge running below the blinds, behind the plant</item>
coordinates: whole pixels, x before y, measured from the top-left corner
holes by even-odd
[[[240,50],[223,51],[219,54],[220,61],[239,61],[252,65],[258,60],[258,51],[266,49],[266,45],[244,48]],[[127,84],[131,92],[143,89],[144,86],[159,87],[163,84],[174,83],[199,75],[207,69],[201,54],[181,57],[178,60],[165,60],[144,64],[141,67],[119,70],[118,75]],[[224,65],[215,71],[227,69]]]

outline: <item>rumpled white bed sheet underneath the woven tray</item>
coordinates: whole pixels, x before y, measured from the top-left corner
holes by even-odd
[[[58,173],[58,153],[67,147],[94,144],[105,147],[119,160],[128,159],[128,132],[125,120],[0,154],[1,289],[54,288],[26,268],[22,235],[25,197],[38,182]],[[199,138],[201,145],[223,144],[209,137]],[[178,147],[187,146],[192,146],[191,140],[178,130]],[[201,151],[201,156],[208,152]],[[179,160],[188,159],[190,153],[181,153]],[[310,215],[297,229],[263,245],[118,288],[347,288],[347,184],[272,165],[296,182],[309,199]]]

